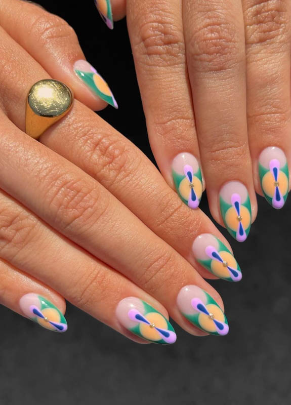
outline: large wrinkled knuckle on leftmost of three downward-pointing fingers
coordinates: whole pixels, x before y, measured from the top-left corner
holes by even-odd
[[[139,41],[134,47],[150,66],[176,65],[179,57],[185,55],[183,33],[174,23],[173,16],[157,12],[143,16]]]

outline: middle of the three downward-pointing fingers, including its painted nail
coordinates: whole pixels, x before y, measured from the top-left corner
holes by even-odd
[[[240,0],[183,1],[187,66],[213,217],[246,239],[257,204],[247,143]]]

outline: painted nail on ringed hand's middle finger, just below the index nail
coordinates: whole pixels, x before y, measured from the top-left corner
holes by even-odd
[[[202,331],[212,335],[228,334],[229,327],[224,312],[200,287],[183,287],[178,294],[177,305],[185,318]]]

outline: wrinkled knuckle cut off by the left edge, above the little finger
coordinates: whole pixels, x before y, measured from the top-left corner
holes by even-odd
[[[37,222],[28,214],[2,205],[0,211],[0,252],[2,255],[17,254],[25,248],[36,234]],[[5,253],[4,253],[5,252]]]

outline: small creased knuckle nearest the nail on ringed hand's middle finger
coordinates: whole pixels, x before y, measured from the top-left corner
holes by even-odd
[[[139,284],[149,293],[154,293],[168,279],[174,277],[175,259],[172,251],[149,252],[145,255],[148,264],[139,275]],[[177,274],[176,274],[177,275]]]

